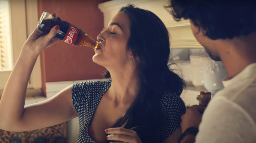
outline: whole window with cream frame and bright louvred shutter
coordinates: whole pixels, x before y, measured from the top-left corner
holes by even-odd
[[[37,22],[37,0],[0,0],[0,96],[21,48]],[[27,95],[41,95],[39,60],[38,58],[32,71]]]

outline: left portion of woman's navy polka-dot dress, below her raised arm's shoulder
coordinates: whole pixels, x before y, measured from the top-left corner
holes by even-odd
[[[78,143],[95,143],[88,134],[88,127],[103,94],[111,86],[108,81],[76,83],[72,87],[72,100],[79,118]]]

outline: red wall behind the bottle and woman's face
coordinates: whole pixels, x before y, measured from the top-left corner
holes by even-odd
[[[45,10],[81,28],[92,39],[103,28],[98,4],[109,0],[38,0],[38,17]],[[105,68],[92,61],[94,49],[58,41],[41,54],[42,82],[102,78]]]

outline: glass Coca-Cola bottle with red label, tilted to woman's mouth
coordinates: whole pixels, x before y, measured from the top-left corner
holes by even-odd
[[[54,18],[48,12],[43,12],[41,15],[37,29],[49,33],[55,25],[60,26],[56,34],[58,39],[73,45],[87,46],[93,49],[98,47],[98,42],[90,38],[83,30],[66,21]]]

